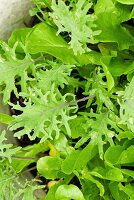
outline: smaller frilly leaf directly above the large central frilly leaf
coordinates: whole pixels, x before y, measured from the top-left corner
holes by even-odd
[[[37,88],[46,93],[48,90],[51,90],[53,83],[55,87],[60,86],[62,89],[65,85],[71,84],[70,74],[75,69],[74,65],[64,65],[52,61],[46,61],[44,67],[45,65],[45,71],[40,69],[36,72],[36,80],[38,81],[35,85]]]

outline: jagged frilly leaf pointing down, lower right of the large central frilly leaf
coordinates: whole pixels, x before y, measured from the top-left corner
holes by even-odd
[[[116,136],[113,130],[109,130],[108,126],[116,128],[114,122],[109,119],[108,113],[81,113],[86,119],[85,130],[88,132],[90,143],[98,145],[100,158],[103,159],[103,145],[109,143],[114,145],[113,137]]]

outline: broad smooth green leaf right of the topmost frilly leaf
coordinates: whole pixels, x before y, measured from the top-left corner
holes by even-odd
[[[134,37],[121,25],[131,18],[131,7],[115,4],[112,0],[98,0],[94,9],[96,25],[102,31],[95,36],[96,39],[100,42],[116,42],[121,50],[134,45]]]

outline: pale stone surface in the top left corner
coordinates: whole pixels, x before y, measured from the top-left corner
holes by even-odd
[[[7,40],[18,27],[24,27],[32,0],[0,0],[0,39]]]

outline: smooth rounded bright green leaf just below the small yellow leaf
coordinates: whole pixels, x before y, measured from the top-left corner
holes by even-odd
[[[38,172],[47,179],[59,178],[62,160],[58,157],[42,157],[37,161]]]

